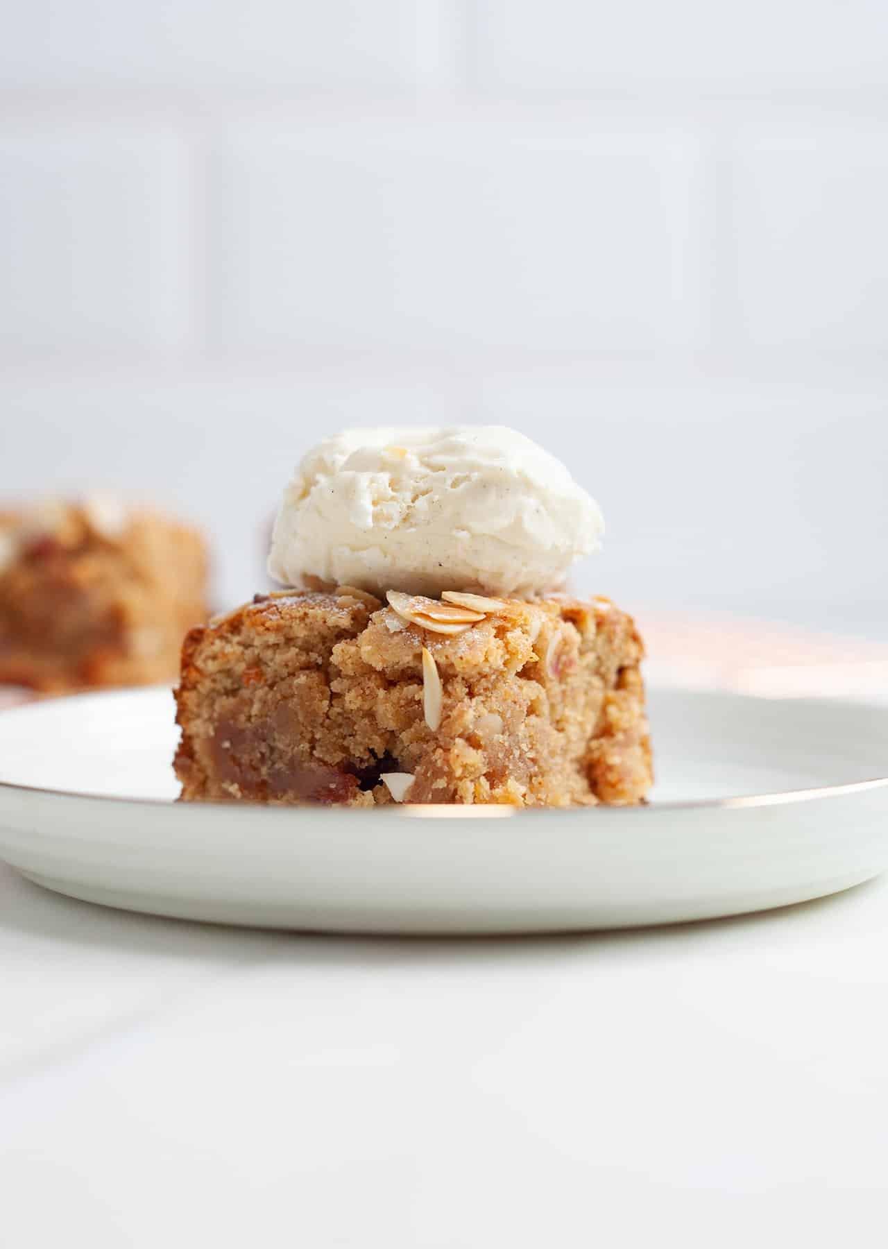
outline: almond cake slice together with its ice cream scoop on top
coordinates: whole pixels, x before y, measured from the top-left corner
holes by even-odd
[[[602,528],[512,430],[326,440],[275,526],[270,572],[292,588],[185,641],[182,798],[643,801],[641,638],[608,600],[561,590]]]

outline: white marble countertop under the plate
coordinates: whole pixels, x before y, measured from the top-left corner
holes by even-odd
[[[848,687],[832,651],[693,653],[701,683]],[[397,940],[154,919],[0,866],[0,1245],[883,1249],[887,1005],[888,878]]]

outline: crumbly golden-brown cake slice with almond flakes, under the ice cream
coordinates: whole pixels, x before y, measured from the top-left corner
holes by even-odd
[[[182,798],[643,799],[643,647],[624,612],[553,597],[423,627],[403,610],[348,587],[287,591],[192,629],[176,696]]]

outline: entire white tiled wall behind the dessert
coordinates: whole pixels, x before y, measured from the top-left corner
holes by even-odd
[[[0,488],[505,421],[631,606],[888,626],[886,0],[0,0]]]

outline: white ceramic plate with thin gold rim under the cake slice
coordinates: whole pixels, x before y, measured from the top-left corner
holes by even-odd
[[[107,906],[380,933],[703,919],[888,866],[888,708],[661,691],[651,719],[649,807],[337,811],[171,802],[167,689],[34,703],[0,714],[0,857]]]

